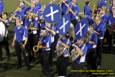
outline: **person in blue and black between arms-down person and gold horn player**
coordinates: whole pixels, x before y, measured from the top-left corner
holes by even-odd
[[[28,31],[28,42],[27,42],[27,49],[29,54],[29,61],[33,61],[35,58],[33,46],[36,45],[39,41],[40,36],[40,24],[38,23],[39,18],[33,17],[32,12],[28,12],[27,17],[24,21],[24,27]]]

